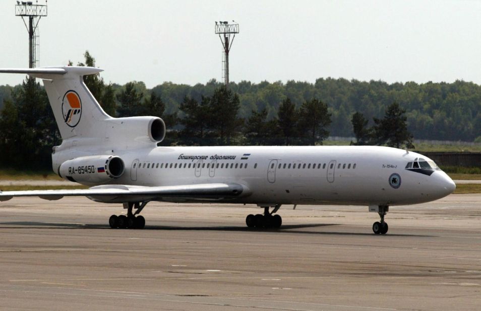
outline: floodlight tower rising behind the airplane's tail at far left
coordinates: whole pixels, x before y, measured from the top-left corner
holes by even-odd
[[[38,1],[33,4],[31,1],[17,1],[15,6],[15,15],[21,16],[25,27],[28,31],[28,67],[35,68],[39,57],[38,43],[38,22],[42,16],[47,16],[47,2],[45,5],[38,5]],[[28,26],[24,17],[28,16]]]

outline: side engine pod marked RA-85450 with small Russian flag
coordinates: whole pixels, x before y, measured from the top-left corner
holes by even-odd
[[[102,184],[124,174],[125,165],[114,155],[91,155],[64,162],[58,169],[62,178],[81,184]]]

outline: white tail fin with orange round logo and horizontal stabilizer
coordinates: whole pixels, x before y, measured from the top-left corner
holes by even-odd
[[[103,71],[94,67],[65,66],[31,69],[0,69],[0,72],[27,73],[43,79],[50,106],[62,139],[71,137],[102,137],[105,121],[111,119],[92,93],[83,76]],[[102,128],[103,127],[103,128]]]

